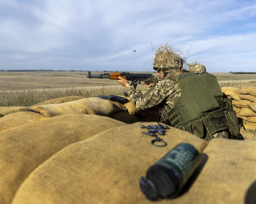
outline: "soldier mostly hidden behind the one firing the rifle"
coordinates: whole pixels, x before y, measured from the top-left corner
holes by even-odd
[[[213,74],[207,73],[203,64],[195,63],[188,65],[188,71],[198,74],[204,80],[213,96],[219,103],[219,106],[223,110],[229,125],[230,138],[243,139],[243,136],[240,134],[241,126],[239,125],[236,113],[233,110],[232,99],[223,97],[223,93],[220,89],[217,78]]]

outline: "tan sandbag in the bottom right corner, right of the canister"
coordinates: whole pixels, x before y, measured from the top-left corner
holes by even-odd
[[[203,152],[196,181],[180,197],[136,204],[256,203],[256,141],[213,139]]]

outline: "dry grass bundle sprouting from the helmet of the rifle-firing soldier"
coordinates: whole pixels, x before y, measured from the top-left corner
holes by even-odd
[[[186,58],[180,57],[169,43],[164,46],[159,45],[153,51],[155,54],[153,69],[163,69],[165,78],[175,77],[183,73],[183,63],[185,64]]]

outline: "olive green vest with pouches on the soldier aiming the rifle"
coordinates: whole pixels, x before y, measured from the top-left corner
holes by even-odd
[[[208,86],[195,73],[183,73],[171,78],[181,89],[181,96],[164,119],[174,128],[188,131],[198,137],[212,138],[222,130],[228,130],[228,123],[223,111]]]

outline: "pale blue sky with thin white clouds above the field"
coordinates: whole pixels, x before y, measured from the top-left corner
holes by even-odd
[[[251,0],[0,0],[0,28],[3,70],[153,71],[170,42],[208,72],[256,71]]]

